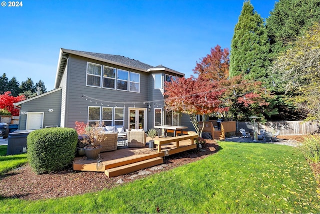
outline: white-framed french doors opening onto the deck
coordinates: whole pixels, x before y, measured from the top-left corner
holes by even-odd
[[[144,129],[146,131],[146,108],[128,108],[129,129]]]

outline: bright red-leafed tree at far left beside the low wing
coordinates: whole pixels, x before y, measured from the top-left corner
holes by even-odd
[[[12,116],[19,116],[19,109],[13,107],[13,103],[25,100],[24,95],[13,97],[11,92],[7,91],[0,95],[0,109],[8,110]]]

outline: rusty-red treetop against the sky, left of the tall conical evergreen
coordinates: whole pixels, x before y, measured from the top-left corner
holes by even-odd
[[[210,54],[196,62],[192,70],[194,74],[202,76],[203,79],[224,80],[229,76],[229,50],[221,49],[219,45],[211,48]]]

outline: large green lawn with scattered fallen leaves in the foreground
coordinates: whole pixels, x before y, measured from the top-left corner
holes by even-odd
[[[202,160],[112,189],[37,201],[0,198],[0,212],[154,213],[157,206],[161,213],[320,210],[317,183],[296,148],[259,143],[219,145],[219,152]]]

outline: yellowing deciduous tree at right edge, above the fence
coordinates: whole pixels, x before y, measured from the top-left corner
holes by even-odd
[[[308,119],[320,120],[320,24],[315,24],[304,36],[282,53],[272,67],[283,83],[285,94]]]

